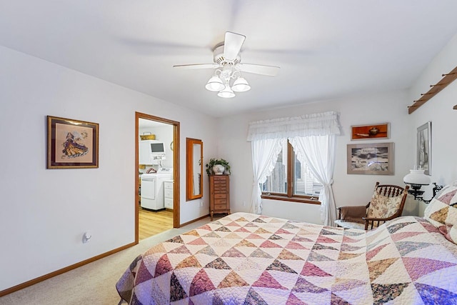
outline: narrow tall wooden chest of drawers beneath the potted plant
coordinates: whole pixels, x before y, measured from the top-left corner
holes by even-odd
[[[230,179],[229,175],[209,176],[209,214],[230,214]]]

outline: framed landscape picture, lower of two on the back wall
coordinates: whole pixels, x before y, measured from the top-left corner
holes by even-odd
[[[348,174],[393,175],[393,143],[348,144]]]

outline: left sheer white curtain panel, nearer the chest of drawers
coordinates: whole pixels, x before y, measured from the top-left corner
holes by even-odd
[[[262,190],[260,184],[266,181],[266,176],[271,174],[274,164],[281,151],[281,139],[261,139],[251,142],[252,147],[252,206],[251,213],[262,212]]]

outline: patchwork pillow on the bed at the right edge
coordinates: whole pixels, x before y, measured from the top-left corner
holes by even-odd
[[[457,181],[444,186],[423,214],[423,218],[436,226],[446,239],[457,244]]]

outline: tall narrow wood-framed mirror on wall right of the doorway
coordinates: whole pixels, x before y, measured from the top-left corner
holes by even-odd
[[[186,199],[203,197],[203,142],[187,138]]]

